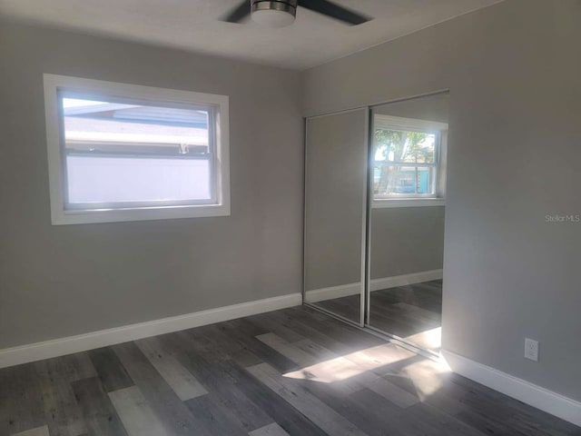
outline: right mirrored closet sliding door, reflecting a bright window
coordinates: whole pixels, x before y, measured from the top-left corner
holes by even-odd
[[[367,325],[438,352],[448,94],[371,110]]]

